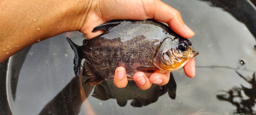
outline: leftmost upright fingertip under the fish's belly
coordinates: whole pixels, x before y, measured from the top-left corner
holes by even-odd
[[[124,88],[127,86],[128,80],[126,77],[126,70],[124,69],[124,67],[118,67],[115,70],[114,84],[118,88]]]

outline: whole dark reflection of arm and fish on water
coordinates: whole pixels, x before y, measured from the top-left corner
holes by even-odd
[[[94,110],[87,98],[90,97],[91,92],[93,97],[100,100],[108,100],[110,98],[117,99],[119,106],[126,106],[128,100],[133,100],[131,105],[133,107],[142,107],[152,104],[158,100],[161,95],[168,92],[171,99],[176,97],[176,82],[173,74],[170,74],[168,84],[164,86],[152,85],[148,90],[141,90],[134,81],[130,81],[126,88],[117,88],[112,80],[103,81],[96,86],[85,85],[83,82],[86,78],[82,75],[74,77],[65,88],[62,89],[39,113],[39,115],[77,115],[80,108],[85,103],[88,115],[94,115]]]

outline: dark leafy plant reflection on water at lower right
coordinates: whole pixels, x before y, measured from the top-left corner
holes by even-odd
[[[236,106],[235,113],[242,115],[255,115],[256,110],[253,109],[256,105],[256,76],[255,72],[251,79],[243,77],[240,73],[236,73],[242,77],[246,82],[252,85],[252,88],[247,88],[243,85],[241,87],[231,88],[229,91],[223,91],[225,94],[216,95],[218,100],[227,101]],[[237,101],[240,100],[240,101]]]

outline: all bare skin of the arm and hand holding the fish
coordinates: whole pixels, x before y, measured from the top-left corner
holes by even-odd
[[[67,31],[80,31],[90,39],[102,33],[92,29],[114,19],[166,22],[184,38],[194,33],[182,21],[180,13],[159,0],[2,0],[0,2],[0,62],[27,46]],[[195,76],[195,60],[184,66],[188,77]],[[153,73],[148,79],[142,72],[134,75],[137,85],[146,90],[152,83],[168,83],[170,73]],[[114,84],[127,85],[125,69],[115,71]]]

